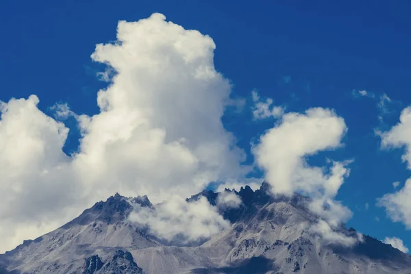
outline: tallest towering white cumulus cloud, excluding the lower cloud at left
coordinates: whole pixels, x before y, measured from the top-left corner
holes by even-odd
[[[88,182],[151,199],[236,177],[245,157],[221,123],[230,85],[214,69],[214,42],[164,19],[121,21],[117,42],[97,45],[92,59],[117,74],[99,91],[101,113],[80,116],[76,159]]]

